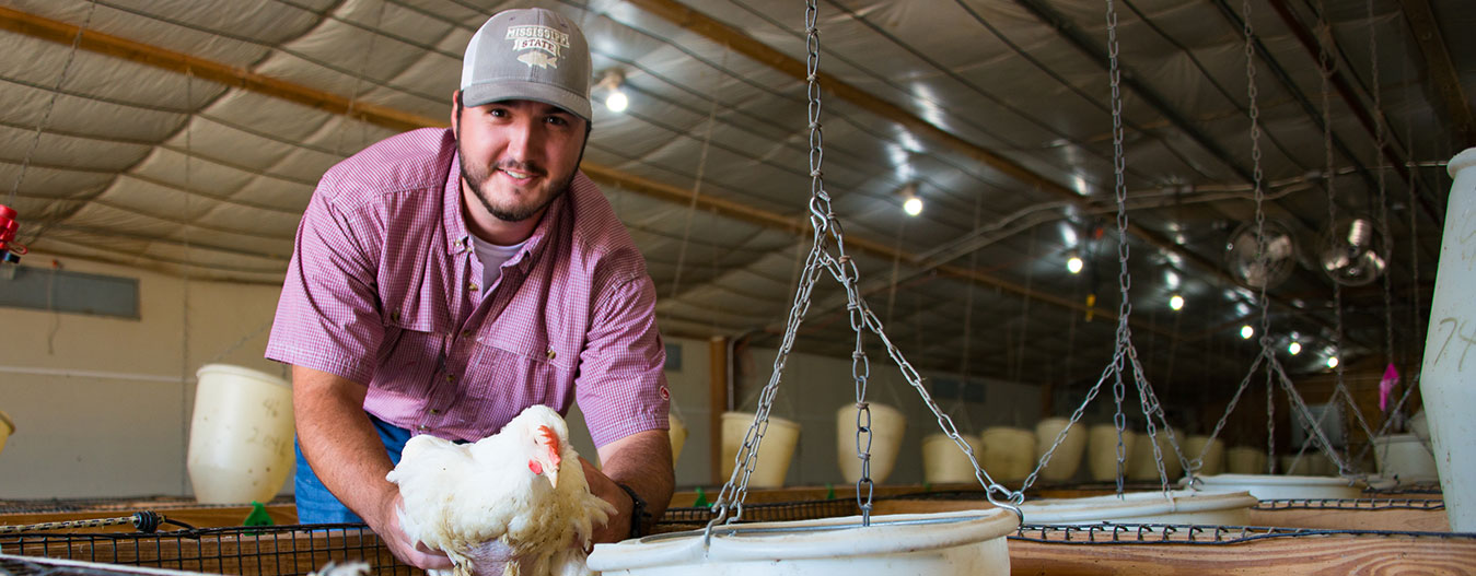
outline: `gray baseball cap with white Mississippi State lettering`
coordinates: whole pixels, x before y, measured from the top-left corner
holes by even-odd
[[[592,77],[584,32],[542,7],[502,10],[487,19],[462,57],[462,105],[536,100],[589,119]]]

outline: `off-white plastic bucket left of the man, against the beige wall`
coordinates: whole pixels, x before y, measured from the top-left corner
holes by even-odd
[[[266,502],[292,470],[292,386],[227,364],[195,374],[189,479],[201,504]]]

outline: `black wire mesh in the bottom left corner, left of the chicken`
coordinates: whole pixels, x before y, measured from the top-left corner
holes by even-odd
[[[422,573],[394,560],[365,524],[254,526],[158,533],[0,536],[0,554],[242,576],[303,576],[363,560],[375,576]]]

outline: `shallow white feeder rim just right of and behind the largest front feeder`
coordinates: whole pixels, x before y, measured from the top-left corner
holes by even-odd
[[[1131,492],[1039,499],[1020,505],[1027,524],[1213,524],[1246,526],[1259,501],[1246,491]]]

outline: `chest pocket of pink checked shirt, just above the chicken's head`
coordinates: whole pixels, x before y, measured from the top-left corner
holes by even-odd
[[[564,411],[573,401],[573,370],[556,354],[515,351],[477,343],[466,367],[468,392],[478,412],[506,421],[523,408],[543,404]]]

